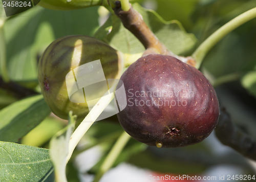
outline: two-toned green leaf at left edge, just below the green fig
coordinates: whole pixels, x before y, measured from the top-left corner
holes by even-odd
[[[42,95],[17,101],[0,111],[0,140],[18,142],[50,114]]]

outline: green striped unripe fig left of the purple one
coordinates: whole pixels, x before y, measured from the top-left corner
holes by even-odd
[[[83,95],[80,103],[70,100],[66,76],[74,72],[78,66],[95,60],[100,60],[105,79],[120,77],[122,60],[119,52],[93,37],[83,35],[61,37],[53,41],[42,54],[38,63],[38,81],[42,95],[56,116],[68,119],[70,110],[78,119],[83,119],[87,115],[89,108]],[[73,78],[77,81],[75,76]],[[82,78],[83,80],[86,81],[87,78]],[[95,93],[98,92],[104,93],[105,89],[95,90]]]

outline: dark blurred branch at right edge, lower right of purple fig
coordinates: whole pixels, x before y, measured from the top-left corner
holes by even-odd
[[[220,119],[215,134],[222,144],[256,161],[256,141],[231,121],[225,109],[220,109]]]

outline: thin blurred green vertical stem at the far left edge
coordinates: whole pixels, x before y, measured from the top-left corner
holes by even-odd
[[[6,60],[6,42],[5,42],[5,36],[4,36],[4,24],[5,24],[5,20],[2,19],[0,15],[0,69],[1,69],[1,75],[3,77],[3,80],[5,82],[9,82],[10,77],[8,75],[7,65],[6,65],[7,60]]]

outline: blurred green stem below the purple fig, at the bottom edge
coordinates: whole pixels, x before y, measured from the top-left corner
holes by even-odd
[[[116,143],[112,147],[109,154],[106,156],[104,162],[100,166],[99,171],[96,173],[93,182],[98,182],[103,174],[111,168],[127,142],[130,140],[130,138],[130,135],[123,131],[123,133],[120,135],[120,137],[117,139]]]

